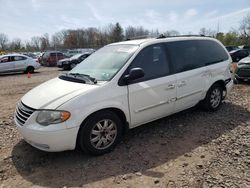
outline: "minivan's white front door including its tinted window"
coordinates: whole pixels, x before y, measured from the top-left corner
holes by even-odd
[[[127,72],[138,67],[145,76],[128,85],[131,127],[173,113],[176,98],[176,77],[171,74],[164,45],[144,48]]]

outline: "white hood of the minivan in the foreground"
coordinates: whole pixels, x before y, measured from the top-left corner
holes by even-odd
[[[30,90],[21,100],[34,109],[56,109],[73,97],[98,87],[100,84],[89,85],[54,78]]]

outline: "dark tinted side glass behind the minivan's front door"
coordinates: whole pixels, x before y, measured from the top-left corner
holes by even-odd
[[[210,40],[187,40],[166,43],[175,72],[183,72],[228,59],[225,50]]]

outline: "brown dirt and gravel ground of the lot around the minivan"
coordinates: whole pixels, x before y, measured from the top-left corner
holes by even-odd
[[[16,102],[60,73],[0,76],[0,187],[250,187],[250,84],[236,85],[216,113],[195,108],[149,123],[93,157],[39,151],[14,125]]]

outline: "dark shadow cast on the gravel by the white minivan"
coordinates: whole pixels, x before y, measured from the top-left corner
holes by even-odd
[[[48,187],[82,186],[136,171],[162,177],[164,174],[150,169],[249,120],[249,111],[224,103],[215,113],[192,109],[130,130],[113,152],[103,156],[87,156],[77,151],[46,153],[20,141],[13,148],[12,161],[24,179]]]

